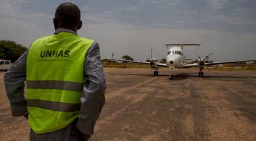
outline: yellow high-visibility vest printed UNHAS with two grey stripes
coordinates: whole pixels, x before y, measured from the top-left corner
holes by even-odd
[[[53,132],[79,118],[83,64],[92,44],[66,32],[33,42],[27,57],[27,107],[34,132]]]

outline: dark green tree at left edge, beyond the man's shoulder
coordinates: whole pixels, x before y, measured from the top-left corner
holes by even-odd
[[[15,62],[27,50],[26,47],[16,44],[14,41],[0,41],[0,58]]]

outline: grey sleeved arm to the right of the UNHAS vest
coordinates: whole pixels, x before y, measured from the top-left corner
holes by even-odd
[[[77,127],[87,135],[93,134],[93,127],[105,104],[105,75],[100,61],[100,47],[94,42],[85,56],[84,75],[87,80],[83,84],[80,119]]]

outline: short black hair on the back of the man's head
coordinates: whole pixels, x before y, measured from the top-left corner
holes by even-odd
[[[55,12],[55,18],[63,25],[77,25],[80,22],[80,9],[70,2],[62,3]]]

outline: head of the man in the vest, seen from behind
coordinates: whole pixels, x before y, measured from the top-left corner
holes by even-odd
[[[79,7],[70,2],[59,5],[56,9],[53,23],[55,30],[58,28],[66,28],[76,32],[82,26]]]

